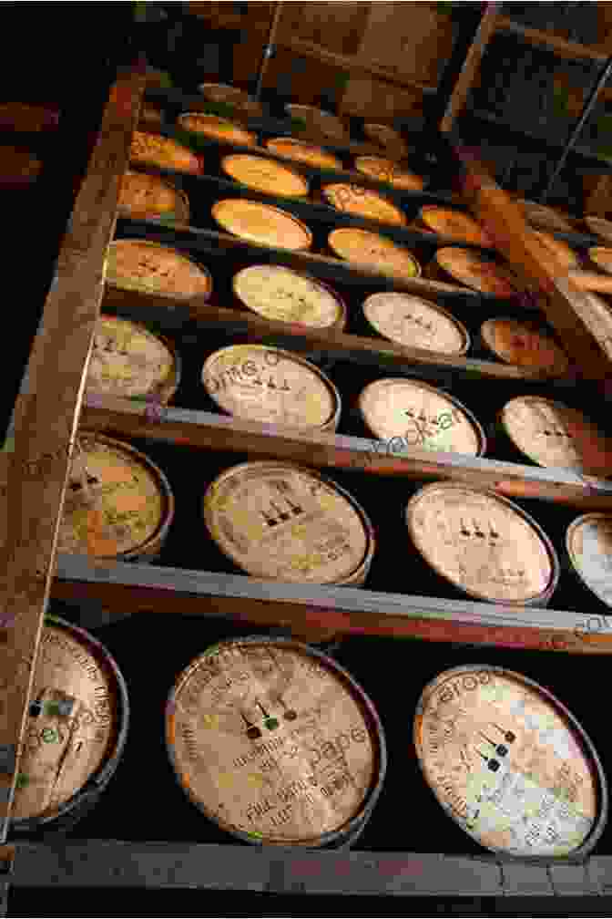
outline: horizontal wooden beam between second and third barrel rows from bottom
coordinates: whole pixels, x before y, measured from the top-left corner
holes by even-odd
[[[406,448],[394,441],[321,432],[287,431],[228,415],[89,396],[83,429],[146,437],[184,447],[236,451],[306,466],[395,475],[416,481],[448,479],[510,498],[539,498],[583,510],[612,511],[612,482],[496,459]]]

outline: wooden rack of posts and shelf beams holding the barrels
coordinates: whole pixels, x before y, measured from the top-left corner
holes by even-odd
[[[6,533],[0,554],[0,588],[4,628],[0,641],[10,645],[12,670],[4,675],[5,718],[0,723],[0,750],[6,768],[0,776],[0,813],[6,822],[18,772],[18,749],[28,712],[29,694],[37,658],[44,612],[51,597],[76,604],[76,615],[95,628],[132,614],[159,612],[206,618],[228,618],[239,624],[311,628],[325,624],[346,635],[410,637],[424,642],[490,646],[518,651],[571,652],[573,661],[584,655],[612,653],[612,626],[605,616],[589,618],[582,609],[567,611],[469,603],[445,597],[411,596],[345,587],[303,587],[261,583],[232,573],[207,572],[167,566],[117,564],[112,568],[72,556],[56,558],[55,542],[78,425],[111,431],[121,437],[147,439],[150,444],[179,449],[247,453],[252,457],[292,459],[334,472],[353,471],[364,482],[410,482],[451,479],[526,499],[538,516],[541,508],[575,511],[610,510],[612,484],[607,480],[568,471],[540,470],[495,459],[466,459],[453,454],[417,450],[401,454],[374,453],[368,441],[352,435],[293,435],[263,425],[229,420],[197,409],[164,408],[154,419],[138,403],[92,399],[83,401],[83,373],[87,366],[95,321],[100,310],[137,316],[155,328],[188,335],[221,329],[251,341],[265,341],[296,349],[325,350],[355,368],[393,369],[428,379],[459,378],[493,385],[546,385],[575,391],[592,385],[605,391],[610,365],[592,331],[580,318],[584,294],[562,273],[544,264],[530,244],[517,207],[495,186],[482,168],[463,156],[457,161],[463,200],[495,238],[526,283],[545,292],[542,300],[549,323],[575,357],[577,378],[542,380],[519,368],[466,358],[448,358],[417,349],[400,348],[382,340],[348,333],[325,333],[267,322],[215,301],[172,301],[154,295],[104,289],[106,252],[117,222],[120,180],[128,165],[129,143],[138,122],[144,91],[142,66],[120,74],[112,88],[87,176],[76,199],[65,236],[57,274],[45,302],[43,324],[28,364],[28,389],[22,391],[14,416],[14,448],[2,454],[3,502]],[[455,177],[457,177],[455,176]],[[228,191],[228,183],[211,176],[210,187]],[[243,192],[244,193],[244,192]],[[257,198],[247,194],[247,197]],[[284,202],[287,206],[287,202]],[[302,205],[313,221],[321,209]],[[341,215],[329,220],[340,221]],[[359,222],[359,221],[358,221]],[[128,233],[128,222],[118,224]],[[389,228],[379,225],[377,232]],[[236,259],[256,264],[263,258],[278,264],[306,268],[319,278],[355,292],[367,289],[406,289],[432,300],[470,308],[490,306],[492,298],[453,285],[423,279],[401,282],[372,270],[340,263],[323,255],[295,254],[246,244],[213,229],[160,223],[135,224],[131,235],[170,239],[185,251],[205,259]],[[416,233],[416,244],[440,241]],[[499,314],[503,314],[499,310]],[[58,372],[61,354],[61,374]],[[444,376],[446,374],[446,377]],[[587,391],[586,389],[584,391]],[[604,392],[606,395],[606,391]],[[563,397],[562,397],[563,398]],[[83,404],[82,404],[83,403]],[[50,419],[53,423],[50,424]],[[407,487],[407,485],[406,485]],[[41,514],[41,508],[45,513]],[[543,511],[542,511],[543,513]],[[559,602],[555,598],[553,605]],[[172,608],[172,614],[169,609]],[[244,625],[243,625],[244,627]],[[231,852],[228,859],[222,851]],[[416,856],[374,857],[357,852],[284,853],[250,851],[239,846],[136,845],[88,843],[6,846],[0,855],[5,866],[17,862],[17,886],[139,886],[250,889],[268,892],[388,893],[469,896],[569,892],[602,895],[610,886],[612,859],[595,857],[586,865],[569,862],[546,866],[500,862],[487,857]],[[395,858],[396,870],[385,868]],[[169,867],[172,863],[172,873]],[[380,863],[380,864],[379,864]],[[75,867],[78,866],[78,867]],[[161,866],[161,868],[160,868]],[[301,866],[301,867],[300,867]],[[305,867],[306,866],[306,867]],[[339,868],[338,866],[343,866]],[[74,873],[72,873],[74,871]],[[157,872],[157,873],[156,873]],[[310,873],[309,873],[310,872]],[[391,878],[391,880],[389,880]]]

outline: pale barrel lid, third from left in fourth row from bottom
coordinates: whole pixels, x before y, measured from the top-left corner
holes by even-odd
[[[409,293],[374,293],[363,301],[368,322],[390,341],[442,354],[465,354],[467,330],[450,312]]]

